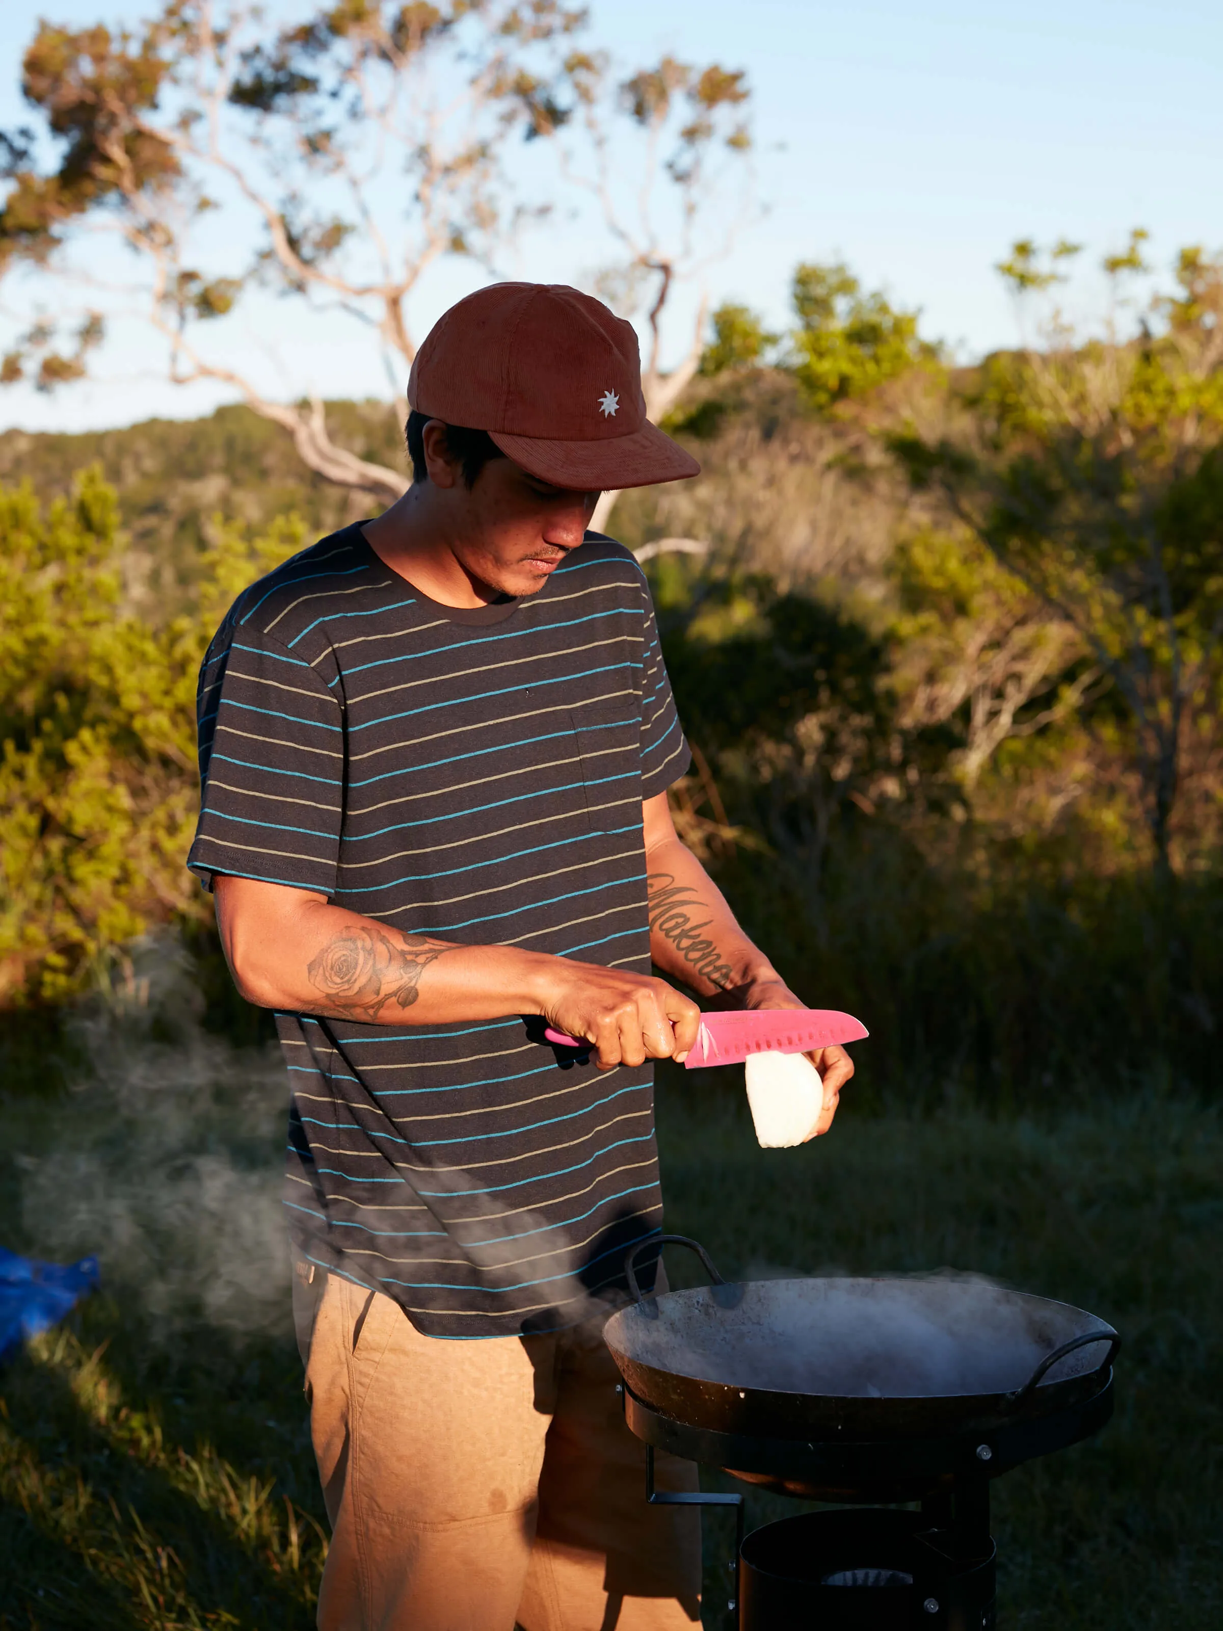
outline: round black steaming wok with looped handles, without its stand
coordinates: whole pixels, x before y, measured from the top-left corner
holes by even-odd
[[[634,1261],[700,1253],[714,1284],[642,1297]],[[726,1284],[696,1241],[642,1241],[636,1303],[603,1331],[633,1395],[672,1421],[770,1439],[938,1439],[1035,1421],[1107,1385],[1120,1337],[1081,1308],[970,1277]]]

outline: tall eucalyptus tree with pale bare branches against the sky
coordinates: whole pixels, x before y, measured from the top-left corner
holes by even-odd
[[[501,276],[522,232],[582,199],[602,233],[592,272],[641,308],[642,383],[665,413],[704,321],[701,307],[667,370],[677,287],[739,219],[717,155],[745,173],[748,91],[717,64],[618,70],[587,33],[564,0],[341,0],[279,26],[236,0],[166,0],[124,29],[39,23],[21,80],[34,124],[0,135],[16,313],[0,383],[70,387],[108,323],[139,313],[173,382],[227,388],[326,481],[388,501],[403,471],[341,445],[321,393],[259,383],[227,320],[271,290],[300,360],[320,318],[347,318],[398,395],[422,277],[455,258]]]

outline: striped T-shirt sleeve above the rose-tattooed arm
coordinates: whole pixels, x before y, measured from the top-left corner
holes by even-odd
[[[342,820],[338,700],[251,623],[220,630],[199,675],[201,812],[188,866],[331,895]]]

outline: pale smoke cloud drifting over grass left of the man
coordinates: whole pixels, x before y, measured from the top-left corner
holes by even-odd
[[[145,948],[77,1021],[86,1067],[70,1091],[10,1104],[29,1249],[96,1253],[103,1290],[153,1336],[205,1321],[235,1336],[290,1326],[279,1052],[235,1050],[199,1024],[192,966]],[[142,1323],[145,1323],[142,1319]]]

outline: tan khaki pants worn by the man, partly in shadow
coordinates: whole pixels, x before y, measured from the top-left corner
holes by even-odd
[[[320,1631],[690,1631],[700,1518],[646,1502],[603,1316],[421,1336],[390,1298],[295,1275],[333,1540]],[[657,1458],[659,1486],[695,1489]]]

